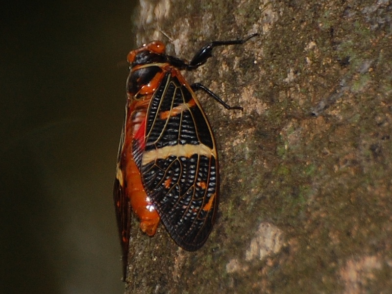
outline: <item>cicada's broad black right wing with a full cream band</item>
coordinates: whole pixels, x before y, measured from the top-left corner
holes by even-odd
[[[194,92],[171,73],[151,98],[145,143],[140,167],[147,195],[172,239],[196,250],[215,221],[218,162],[211,127]]]

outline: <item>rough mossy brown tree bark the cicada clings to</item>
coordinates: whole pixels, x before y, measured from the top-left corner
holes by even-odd
[[[244,107],[199,95],[219,147],[219,217],[196,252],[133,220],[126,293],[389,293],[391,0],[140,4],[137,44],[159,39],[188,60],[212,40],[260,37],[185,73]]]

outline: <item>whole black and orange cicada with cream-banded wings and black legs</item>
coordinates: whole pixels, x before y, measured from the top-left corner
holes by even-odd
[[[189,85],[180,71],[204,64],[214,47],[243,44],[255,35],[207,44],[189,63],[166,55],[159,41],[128,54],[127,104],[114,183],[124,279],[131,211],[149,236],[162,220],[186,250],[197,250],[207,240],[218,208],[218,156],[195,91],[204,90],[227,109],[242,108],[230,107],[199,83]]]

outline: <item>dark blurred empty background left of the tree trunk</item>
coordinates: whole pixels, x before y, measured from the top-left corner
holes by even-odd
[[[5,5],[0,292],[121,293],[112,185],[135,5]]]

